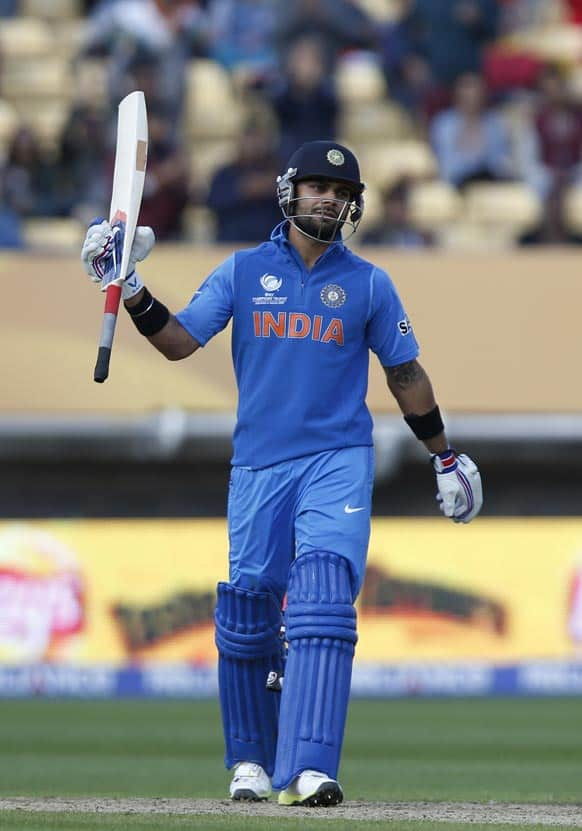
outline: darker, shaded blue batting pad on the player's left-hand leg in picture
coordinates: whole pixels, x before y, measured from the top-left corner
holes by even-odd
[[[273,773],[280,696],[266,688],[283,669],[281,609],[268,592],[218,584],[214,620],[225,764],[256,762]]]

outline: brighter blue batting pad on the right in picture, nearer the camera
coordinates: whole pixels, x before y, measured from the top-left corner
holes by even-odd
[[[358,639],[344,557],[316,551],[294,561],[285,621],[289,651],[273,778],[279,790],[303,770],[337,778]]]

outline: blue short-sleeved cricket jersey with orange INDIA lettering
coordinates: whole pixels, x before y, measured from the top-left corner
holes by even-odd
[[[176,317],[202,346],[232,318],[232,463],[251,468],[371,445],[369,350],[383,366],[418,355],[385,271],[341,242],[308,271],[284,222],[219,265]]]

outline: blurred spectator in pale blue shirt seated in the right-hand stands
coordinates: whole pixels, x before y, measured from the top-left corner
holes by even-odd
[[[503,118],[487,109],[478,75],[457,80],[454,105],[435,116],[431,142],[442,178],[456,187],[511,176],[509,131]]]

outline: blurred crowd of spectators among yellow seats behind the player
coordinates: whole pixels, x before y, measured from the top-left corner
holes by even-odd
[[[411,209],[427,181],[455,198],[519,185],[540,212],[518,244],[582,239],[565,211],[582,184],[582,0],[52,2],[66,12],[48,24],[72,92],[43,131],[14,86],[35,58],[10,35],[43,4],[0,0],[0,247],[25,247],[33,219],[107,214],[117,104],[132,89],[146,94],[150,132],[140,223],[159,240],[265,238],[281,219],[277,174],[321,138],[361,156],[375,199],[364,244],[438,244]],[[552,27],[563,51],[539,46]],[[50,116],[50,95],[38,113]],[[396,150],[388,173],[399,141],[425,147],[434,169]]]

